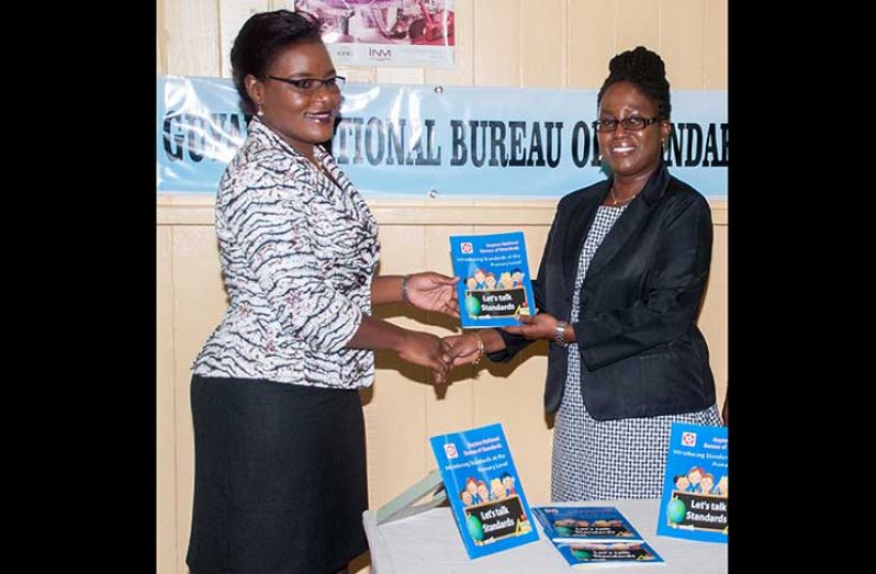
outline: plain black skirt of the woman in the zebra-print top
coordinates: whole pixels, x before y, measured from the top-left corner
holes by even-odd
[[[192,574],[335,573],[368,550],[359,393],[192,376]]]

